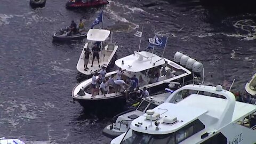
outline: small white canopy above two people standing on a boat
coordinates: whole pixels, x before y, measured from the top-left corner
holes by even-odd
[[[103,42],[106,41],[109,34],[110,31],[106,29],[90,29],[87,33],[87,40]]]

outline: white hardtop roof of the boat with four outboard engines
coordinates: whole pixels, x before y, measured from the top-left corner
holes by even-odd
[[[134,52],[134,54],[128,55],[124,58],[118,59],[115,61],[117,67],[126,69],[131,72],[139,72],[153,67],[163,65],[165,60],[158,55],[153,54],[152,62],[151,61],[152,53],[141,51]],[[122,64],[123,61],[123,64]]]

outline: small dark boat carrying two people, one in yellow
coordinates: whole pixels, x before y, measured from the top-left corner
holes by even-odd
[[[81,33],[77,32],[76,34],[69,35],[69,32],[69,27],[66,27],[64,29],[61,28],[58,32],[53,34],[53,41],[69,41],[73,39],[84,38],[87,34],[86,31],[82,31]]]

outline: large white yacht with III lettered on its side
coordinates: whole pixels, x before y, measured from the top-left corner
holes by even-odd
[[[175,97],[183,91],[188,92],[188,97],[178,103],[167,99],[153,110],[147,110],[111,143],[256,142],[255,105],[236,101],[234,94],[223,90],[221,85],[186,85],[171,95]]]

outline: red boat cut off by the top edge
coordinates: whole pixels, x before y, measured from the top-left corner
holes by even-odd
[[[107,0],[69,0],[66,3],[66,8],[78,8],[78,7],[94,7],[109,4]]]

